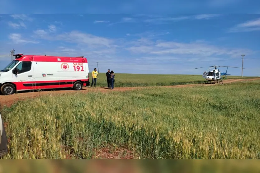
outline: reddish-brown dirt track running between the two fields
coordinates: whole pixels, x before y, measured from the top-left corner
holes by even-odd
[[[243,81],[251,81],[251,80],[260,80],[260,78],[254,78],[254,79],[227,79],[223,80],[223,84],[230,84],[234,82],[243,82]],[[214,85],[214,84],[213,84]],[[212,84],[186,84],[186,85],[174,85],[174,86],[157,86],[159,88],[183,88],[183,87],[194,87],[194,86],[212,86]],[[55,94],[61,94],[61,93],[76,93],[76,92],[113,92],[113,91],[129,91],[133,89],[145,89],[145,88],[154,88],[154,87],[125,87],[125,88],[115,88],[114,90],[109,90],[102,87],[96,87],[96,88],[89,88],[84,87],[81,91],[74,91],[69,89],[59,89],[59,90],[45,90],[45,91],[31,91],[31,92],[20,92],[15,93],[12,95],[3,96],[0,95],[0,108],[4,105],[11,106],[14,102],[17,102],[18,100],[24,100],[28,98],[35,98],[42,95],[55,95]]]

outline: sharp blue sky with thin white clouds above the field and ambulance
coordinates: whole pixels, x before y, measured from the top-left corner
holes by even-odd
[[[1,3],[8,7],[9,2]],[[73,1],[67,1],[63,9],[69,5],[76,7]],[[179,4],[182,5],[184,2]],[[207,7],[214,6],[215,11],[222,9],[225,13],[228,5]],[[54,3],[50,12],[55,8]],[[114,8],[121,12],[121,6]],[[17,9],[15,6],[12,12]],[[34,9],[32,12],[41,13]],[[96,8],[96,12],[101,10],[102,7]],[[245,54],[247,69],[243,75],[260,76],[260,14],[253,7],[250,10],[254,14],[0,14],[0,69],[10,62],[8,55],[13,48],[22,54],[84,56],[90,71],[99,62],[100,72],[110,68],[115,73],[143,74],[201,75],[204,69],[194,68],[241,67],[241,55]],[[138,8],[135,11],[142,12]],[[230,68],[228,72],[241,75],[241,69]]]

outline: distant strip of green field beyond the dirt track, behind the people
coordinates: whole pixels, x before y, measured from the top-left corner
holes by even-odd
[[[90,83],[92,82],[91,73]],[[228,79],[249,79],[255,77],[227,76]],[[202,75],[143,75],[143,74],[116,74],[115,87],[144,87],[170,86],[182,84],[202,84],[205,79]],[[106,74],[97,76],[97,86],[107,87]]]

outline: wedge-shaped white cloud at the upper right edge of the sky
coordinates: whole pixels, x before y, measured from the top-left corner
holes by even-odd
[[[260,30],[260,18],[249,20],[229,29],[229,32],[249,32]]]

